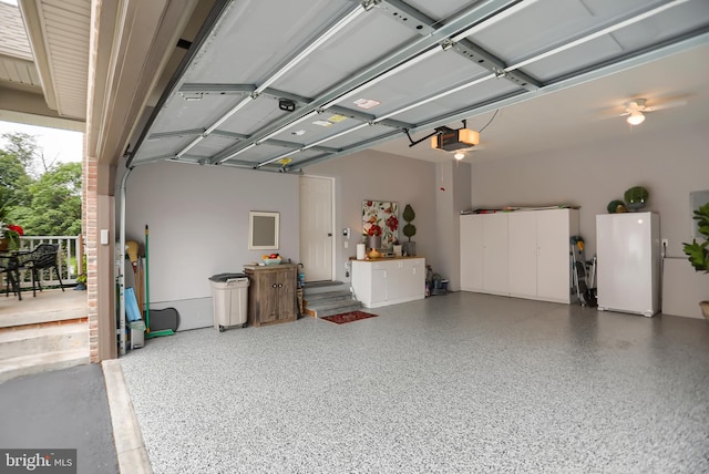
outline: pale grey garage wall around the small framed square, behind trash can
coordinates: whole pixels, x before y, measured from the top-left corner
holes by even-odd
[[[126,185],[126,240],[143,248],[150,225],[151,309],[175,307],[181,329],[212,324],[215,274],[240,272],[249,210],[280,213],[284,258],[299,258],[298,176],[217,166],[137,166]]]

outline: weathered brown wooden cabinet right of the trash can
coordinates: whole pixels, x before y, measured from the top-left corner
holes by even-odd
[[[295,265],[246,267],[244,272],[249,278],[248,324],[259,327],[298,318]]]

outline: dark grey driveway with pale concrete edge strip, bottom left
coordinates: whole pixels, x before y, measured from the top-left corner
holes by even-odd
[[[153,472],[117,360],[0,383],[0,450],[75,449],[79,474]]]

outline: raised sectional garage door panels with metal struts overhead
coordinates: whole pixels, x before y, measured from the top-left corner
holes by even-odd
[[[708,43],[703,0],[219,0],[129,165],[300,169]]]

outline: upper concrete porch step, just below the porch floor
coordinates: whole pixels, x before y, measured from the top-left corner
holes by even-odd
[[[89,324],[19,327],[0,332],[0,363],[7,359],[89,348]]]

